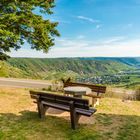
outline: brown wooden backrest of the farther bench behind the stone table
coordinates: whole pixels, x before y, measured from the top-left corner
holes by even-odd
[[[105,93],[106,92],[106,86],[100,86],[100,85],[85,84],[85,83],[74,83],[74,82],[64,82],[64,87],[68,87],[68,86],[88,87],[92,90],[92,92],[97,92],[97,93]]]

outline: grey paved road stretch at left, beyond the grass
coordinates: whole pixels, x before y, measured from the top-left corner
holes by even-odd
[[[1,87],[46,88],[49,85],[48,81],[0,78]]]

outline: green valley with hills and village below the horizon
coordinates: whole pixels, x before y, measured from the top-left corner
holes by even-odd
[[[0,76],[74,81],[135,88],[140,84],[140,58],[10,58],[0,62]]]

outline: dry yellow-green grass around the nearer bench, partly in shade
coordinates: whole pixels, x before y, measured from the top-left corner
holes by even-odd
[[[139,140],[140,102],[103,98],[77,130],[65,117],[40,120],[28,89],[0,88],[0,140]]]

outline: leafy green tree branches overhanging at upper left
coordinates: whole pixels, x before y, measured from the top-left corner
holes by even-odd
[[[32,49],[48,52],[54,37],[59,36],[58,23],[43,19],[34,10],[49,15],[54,6],[54,0],[1,0],[0,56],[12,48],[21,48],[25,40]]]

